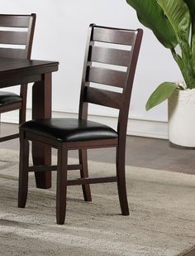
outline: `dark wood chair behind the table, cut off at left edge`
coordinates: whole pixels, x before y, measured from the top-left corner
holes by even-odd
[[[30,59],[36,23],[36,14],[0,14],[0,58]],[[3,65],[3,63],[1,63]],[[9,85],[7,85],[9,87]],[[27,85],[21,85],[20,94],[0,91],[0,114],[19,109],[19,123],[26,121]],[[0,138],[4,142],[19,137],[19,133]]]

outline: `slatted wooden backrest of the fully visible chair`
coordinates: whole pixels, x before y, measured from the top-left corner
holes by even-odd
[[[119,138],[126,137],[131,90],[142,34],[141,29],[99,27],[95,24],[91,24],[88,31],[79,118],[88,118],[88,103],[119,109]],[[106,85],[106,89],[97,88],[100,84]],[[114,87],[120,88],[121,92],[117,92]]]

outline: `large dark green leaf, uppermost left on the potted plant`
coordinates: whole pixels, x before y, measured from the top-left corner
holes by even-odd
[[[156,0],[126,0],[126,2],[136,10],[139,21],[154,32],[161,44],[169,49],[178,45],[174,28]]]

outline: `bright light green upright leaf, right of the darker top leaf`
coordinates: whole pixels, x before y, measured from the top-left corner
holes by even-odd
[[[188,5],[183,0],[157,0],[157,2],[174,28],[178,41],[181,39],[188,41],[191,24]]]

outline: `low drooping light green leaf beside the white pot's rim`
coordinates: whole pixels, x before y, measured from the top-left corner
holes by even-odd
[[[149,110],[154,108],[156,105],[162,103],[165,99],[168,99],[171,94],[174,93],[174,90],[178,88],[178,85],[171,82],[164,82],[160,84],[155,91],[150,95],[145,109]]]

